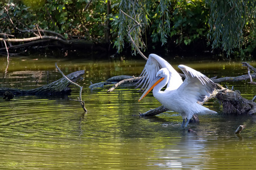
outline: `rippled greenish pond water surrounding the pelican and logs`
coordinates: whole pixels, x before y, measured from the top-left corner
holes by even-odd
[[[36,88],[61,78],[54,59],[0,58],[1,87]],[[156,117],[132,116],[159,106],[151,95],[138,103],[141,93],[133,87],[90,90],[90,81],[115,75],[139,75],[144,61],[57,61],[65,74],[85,70],[82,94],[88,112],[72,95],[51,99],[36,96],[0,99],[0,167],[2,169],[255,169],[254,116],[222,115],[217,101],[206,107],[220,114],[200,116],[195,130],[180,128],[181,116],[166,112]],[[184,62],[183,62],[184,63]],[[175,68],[177,65],[174,65]],[[239,63],[189,63],[207,76],[244,74]],[[246,72],[246,70],[245,70]],[[38,84],[36,84],[38,82]],[[246,82],[226,83],[251,99]],[[224,84],[223,84],[224,85]],[[111,87],[111,86],[110,86]],[[241,135],[234,130],[246,125]]]

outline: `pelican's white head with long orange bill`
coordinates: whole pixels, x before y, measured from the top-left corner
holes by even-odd
[[[141,101],[158,83],[162,82],[163,79],[169,79],[169,76],[170,76],[170,73],[167,68],[160,69],[158,73],[156,73],[155,79],[152,80],[150,85],[142,94],[141,98],[139,98],[139,101]]]

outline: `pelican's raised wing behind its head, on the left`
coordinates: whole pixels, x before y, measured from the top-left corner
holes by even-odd
[[[177,73],[177,71],[170,65],[170,63],[168,63],[166,60],[164,60],[162,57],[156,55],[156,54],[150,54],[148,56],[148,60],[146,62],[146,65],[141,73],[141,79],[139,79],[138,81],[138,86],[135,88],[138,88],[140,86],[141,89],[139,91],[141,91],[143,88],[144,90],[148,87],[148,85],[152,82],[152,80],[154,80],[156,73],[158,73],[158,71],[162,68],[166,67],[169,72],[170,72],[170,80],[169,82],[172,80],[174,80],[174,86],[179,87],[180,84],[182,83],[182,79],[181,76]],[[175,78],[175,79],[174,79]],[[168,86],[170,86],[170,83],[167,84],[167,88]],[[143,91],[144,91],[143,90]]]

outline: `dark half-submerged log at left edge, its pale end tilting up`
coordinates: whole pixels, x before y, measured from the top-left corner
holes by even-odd
[[[85,72],[84,70],[75,71],[71,74],[68,74],[67,77],[75,82],[77,79],[81,77]],[[55,82],[46,84],[42,87],[34,88],[31,90],[20,90],[16,88],[0,88],[0,96],[3,96],[5,92],[10,92],[15,96],[51,96],[51,95],[69,95],[71,93],[71,89],[68,87],[70,82],[68,82],[65,78],[60,78]]]

